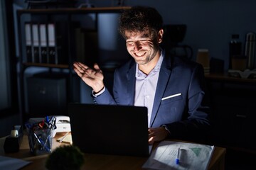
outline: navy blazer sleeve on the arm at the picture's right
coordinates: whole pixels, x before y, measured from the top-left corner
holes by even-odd
[[[183,120],[164,124],[170,132],[169,138],[205,142],[210,132],[210,104],[200,64],[191,75],[186,101],[188,104]]]

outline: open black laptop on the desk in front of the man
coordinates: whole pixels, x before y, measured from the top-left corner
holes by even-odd
[[[82,152],[148,157],[147,108],[69,103],[73,145]]]

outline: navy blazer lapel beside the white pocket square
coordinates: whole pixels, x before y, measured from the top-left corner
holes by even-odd
[[[156,118],[156,113],[159,109],[161,98],[164,96],[164,91],[171,77],[171,57],[165,56],[163,63],[161,64],[161,69],[159,72],[159,80],[156,86],[156,94],[154,98],[153,109],[150,118],[150,127],[154,124]]]

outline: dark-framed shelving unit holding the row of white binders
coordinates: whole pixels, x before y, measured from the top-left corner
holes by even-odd
[[[65,69],[68,70],[68,102],[72,102],[72,89],[73,89],[73,62],[76,60],[74,57],[74,34],[73,34],[73,21],[80,22],[75,17],[79,16],[94,16],[94,21],[92,23],[92,30],[97,33],[98,30],[98,14],[99,13],[121,13],[124,9],[130,8],[129,6],[122,7],[102,7],[102,8],[36,8],[36,9],[22,9],[18,10],[16,13],[17,16],[17,26],[18,26],[18,45],[19,45],[19,89],[20,89],[20,108],[21,115],[23,117],[23,122],[28,117],[28,113],[26,113],[25,109],[25,92],[24,92],[24,72],[28,67],[44,67],[48,69]],[[36,21],[33,21],[36,18]],[[39,19],[38,19],[39,18]],[[66,27],[65,42],[67,43],[67,49],[65,52],[65,57],[67,57],[66,63],[61,64],[50,64],[50,63],[33,63],[26,62],[26,45],[25,45],[25,37],[24,37],[24,25],[26,22],[38,22],[38,23],[50,23],[61,20],[65,21]],[[79,27],[79,26],[78,26]],[[63,57],[63,56],[62,56]],[[94,59],[97,60],[97,59]]]

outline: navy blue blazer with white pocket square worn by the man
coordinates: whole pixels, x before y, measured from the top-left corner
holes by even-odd
[[[106,91],[96,103],[134,105],[136,62],[129,60],[114,72],[112,98]],[[206,96],[203,67],[181,57],[164,57],[156,86],[150,125],[166,126],[169,137],[198,140],[208,135],[210,108]]]

